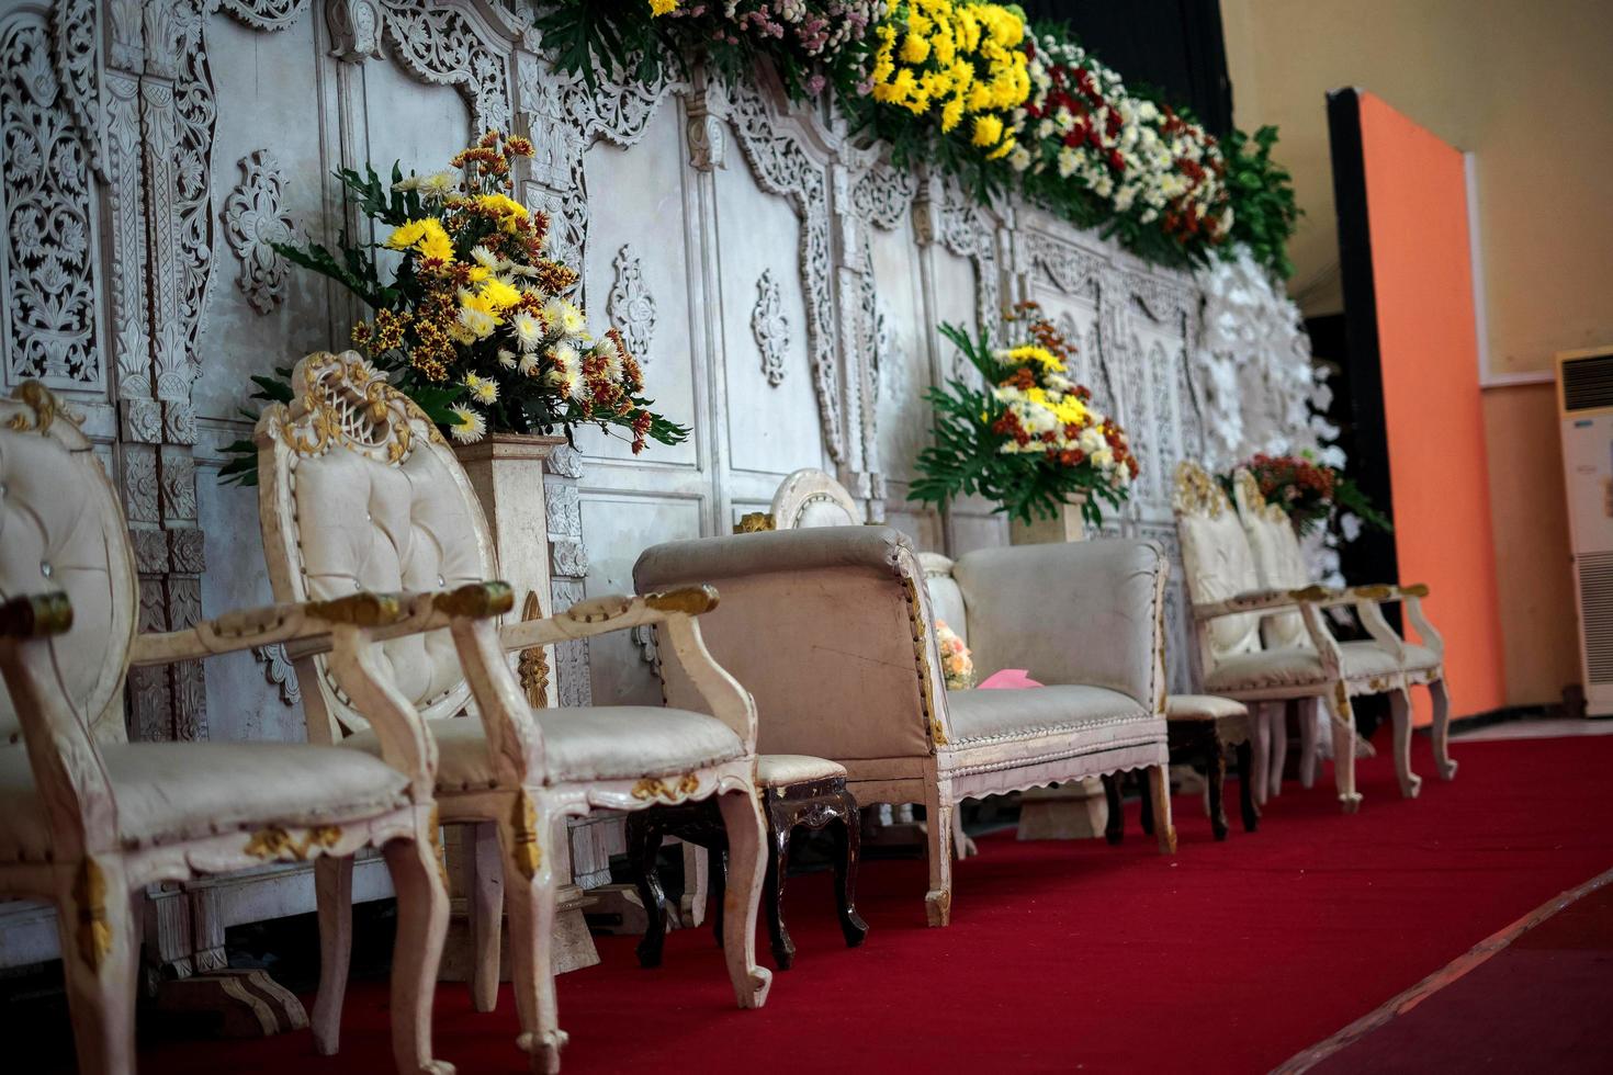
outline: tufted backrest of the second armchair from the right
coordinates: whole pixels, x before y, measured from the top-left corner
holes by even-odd
[[[1194,604],[1224,601],[1261,587],[1244,525],[1226,493],[1202,466],[1190,459],[1176,464],[1171,506],[1182,543],[1187,596]],[[1258,612],[1219,616],[1200,630],[1205,632],[1211,661],[1260,650]]]

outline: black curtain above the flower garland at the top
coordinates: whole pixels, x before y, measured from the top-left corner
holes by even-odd
[[[1031,21],[1068,23],[1127,84],[1187,105],[1213,134],[1232,126],[1219,0],[1021,0]]]

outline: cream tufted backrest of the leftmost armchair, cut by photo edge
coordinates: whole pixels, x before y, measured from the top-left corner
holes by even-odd
[[[127,738],[123,677],[139,583],[129,532],[100,459],[37,382],[0,400],[0,601],[65,591],[73,629],[47,641],[63,693],[102,741]],[[0,688],[0,749],[21,743]]]

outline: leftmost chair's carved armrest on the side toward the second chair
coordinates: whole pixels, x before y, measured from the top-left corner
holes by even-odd
[[[173,664],[198,661],[223,653],[237,653],[277,641],[327,640],[334,625],[386,629],[405,624],[410,604],[397,593],[352,593],[331,601],[303,604],[269,604],[226,612],[184,630],[150,632],[134,637],[129,664]],[[379,635],[386,637],[386,635]],[[310,653],[329,648],[303,648]]]

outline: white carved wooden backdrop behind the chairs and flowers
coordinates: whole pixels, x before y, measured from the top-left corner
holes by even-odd
[[[629,588],[647,545],[727,532],[802,466],[836,472],[869,519],[923,548],[1007,542],[990,504],[942,519],[907,492],[929,427],[919,396],[965,372],[937,322],[995,324],[1018,298],[1079,342],[1082,377],[1142,459],[1139,496],[1108,532],[1155,537],[1174,558],[1177,458],[1313,440],[1308,348],[1250,266],[1195,282],[1039,211],[982,208],[850,143],[824,108],[782,106],[771,85],[694,73],[589,92],[547,68],[516,6],[26,0],[0,13],[0,387],[39,377],[85,416],[134,529],[142,627],[269,598],[255,498],[218,485],[221,446],[248,429],[248,374],[345,345],[358,313],[269,243],[360,230],[337,168],[436,169],[486,127],[534,137],[521,197],[555,216],[595,324],[621,326],[661,409],[694,429],[639,458],[595,434],[556,453],[555,608]],[[1200,347],[1207,285],[1216,332]],[[1184,687],[1179,588],[1169,614]],[[655,699],[648,658],[644,638],[573,646],[561,698]],[[297,683],[273,648],[205,679],[197,664],[137,670],[129,696],[140,738],[300,735]]]

